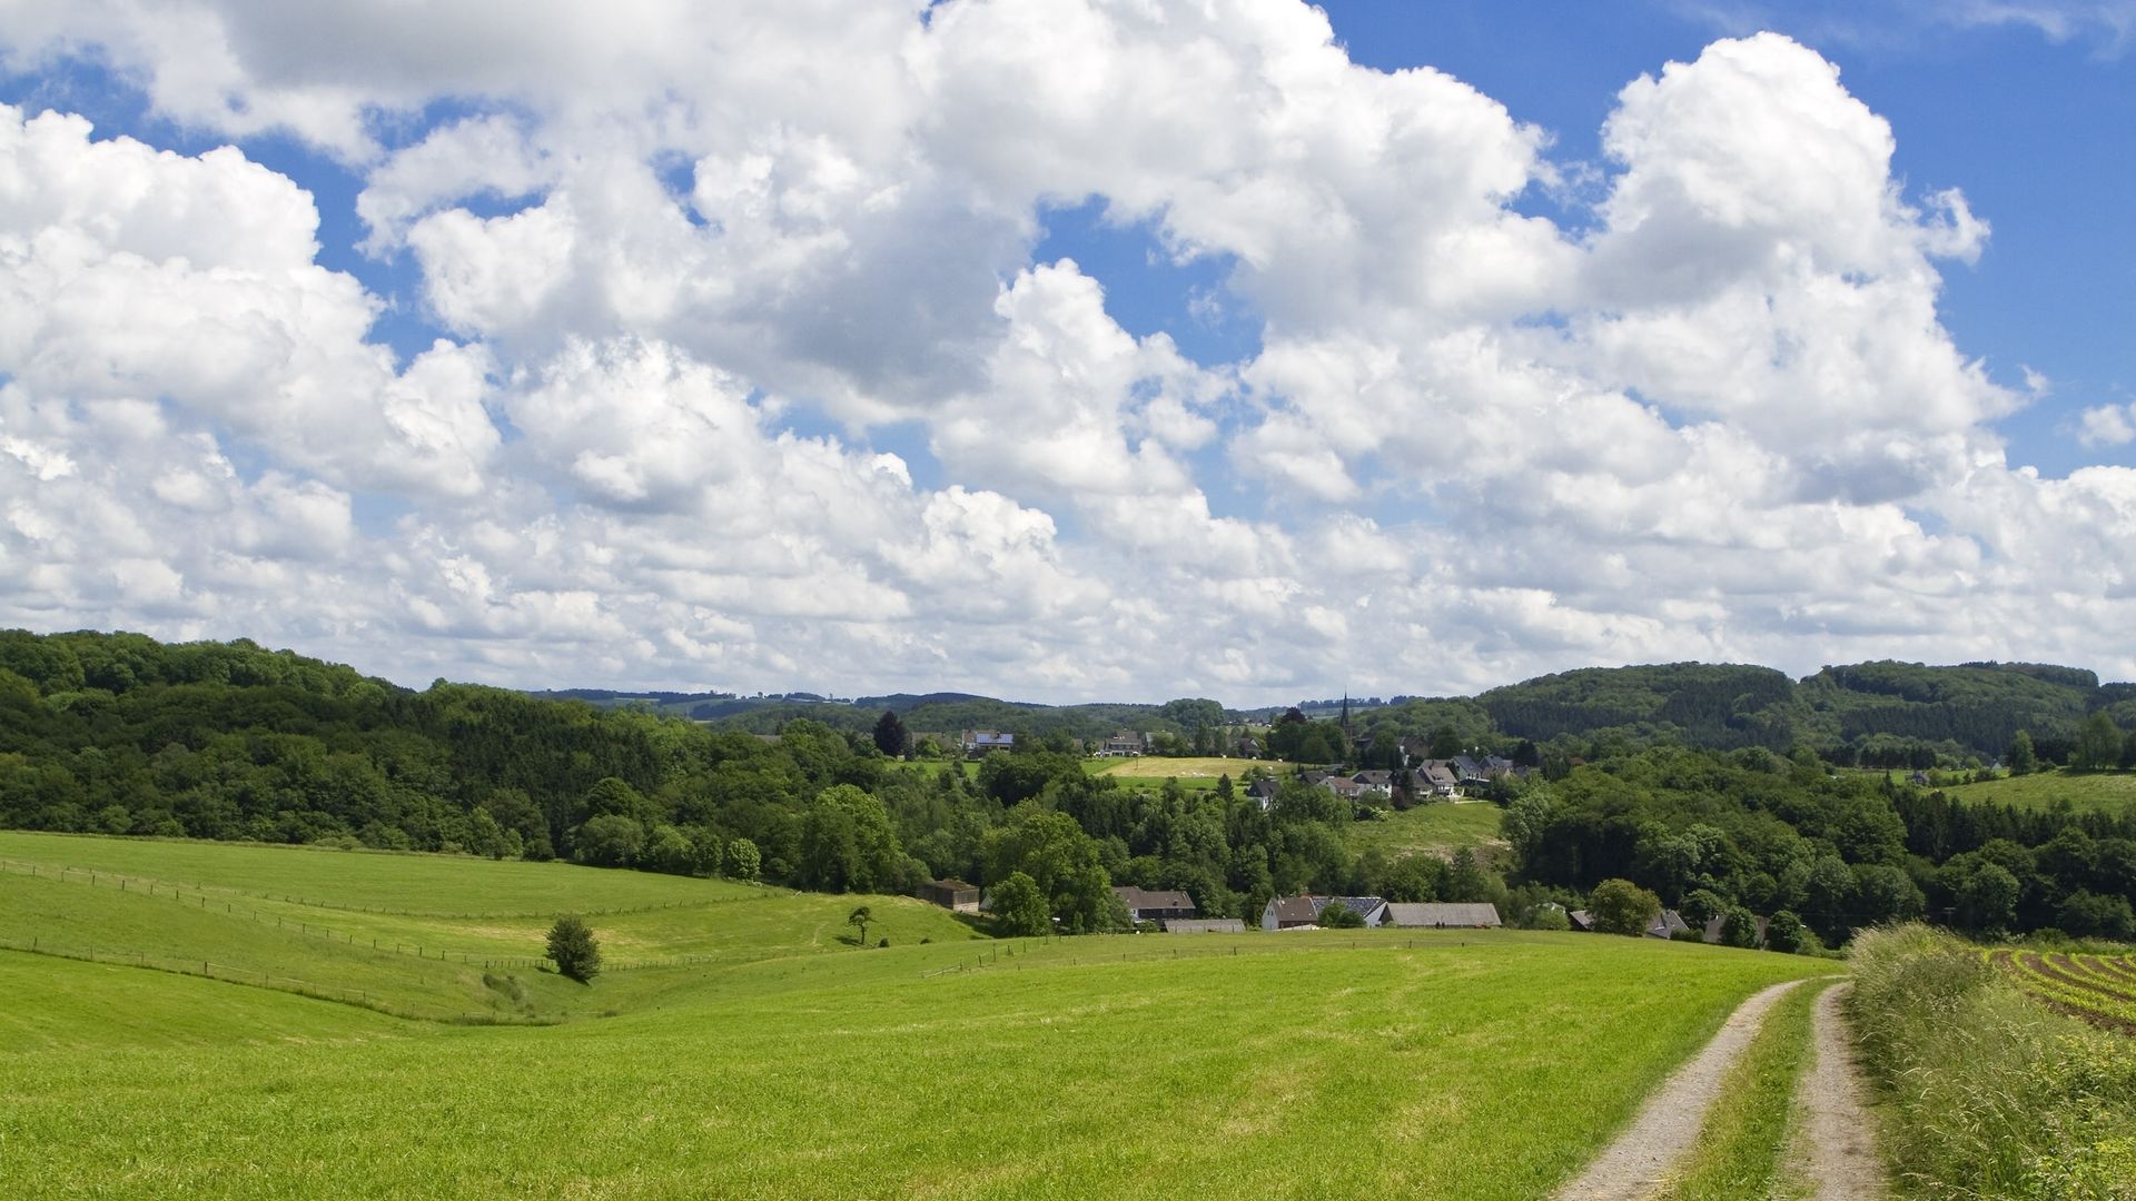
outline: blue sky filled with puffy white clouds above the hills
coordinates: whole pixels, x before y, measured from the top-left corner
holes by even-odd
[[[2136,669],[2130,4],[626,9],[21,6],[0,620],[1239,703]]]

